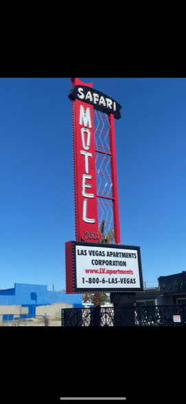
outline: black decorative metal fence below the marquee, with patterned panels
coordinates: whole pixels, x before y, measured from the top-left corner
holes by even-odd
[[[62,326],[186,326],[186,306],[62,308]]]

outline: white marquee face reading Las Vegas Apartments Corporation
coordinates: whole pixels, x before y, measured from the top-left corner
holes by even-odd
[[[80,290],[143,289],[139,247],[75,245],[75,287]]]

